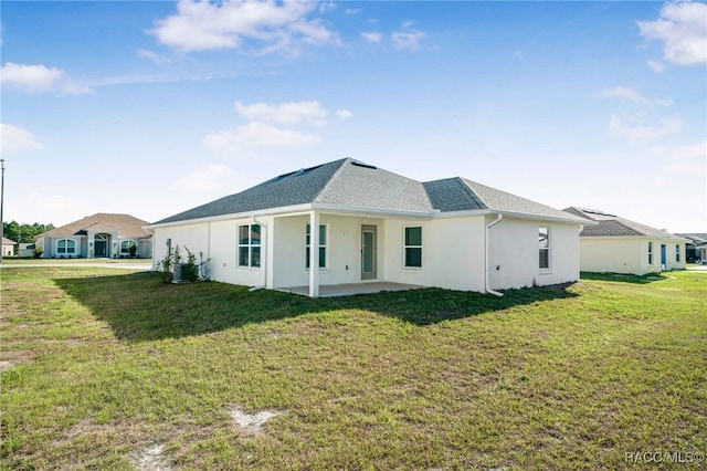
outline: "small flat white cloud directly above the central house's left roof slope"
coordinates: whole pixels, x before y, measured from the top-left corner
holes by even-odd
[[[249,121],[286,125],[306,122],[317,126],[326,124],[326,117],[329,114],[329,111],[317,101],[288,102],[278,105],[268,105],[262,102],[244,105],[241,102],[235,102],[235,111]]]

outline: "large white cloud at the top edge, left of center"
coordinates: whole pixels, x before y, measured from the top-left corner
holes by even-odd
[[[319,20],[307,20],[315,2],[272,0],[208,1],[180,0],[177,13],[158,20],[149,33],[181,51],[240,49],[244,40],[264,44],[261,52],[293,53],[298,42],[338,43],[336,33]]]

